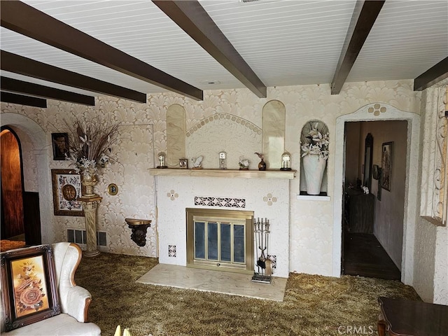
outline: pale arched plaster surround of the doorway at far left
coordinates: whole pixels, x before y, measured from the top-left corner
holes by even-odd
[[[18,133],[19,137],[20,134],[26,134],[31,140],[31,146],[28,151],[32,152],[36,161],[42,244],[50,244],[53,242],[51,218],[52,184],[50,169],[48,168],[48,145],[45,132],[34,120],[18,113],[2,113],[1,126],[9,126]]]

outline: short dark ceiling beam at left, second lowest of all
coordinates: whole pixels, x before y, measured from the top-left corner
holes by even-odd
[[[88,106],[95,105],[95,98],[92,96],[59,90],[55,87],[29,83],[24,80],[4,76],[0,76],[0,88],[4,91],[31,94],[31,96],[61,100],[62,102],[71,102]]]

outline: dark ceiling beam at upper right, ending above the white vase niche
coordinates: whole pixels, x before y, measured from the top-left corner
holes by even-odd
[[[384,0],[357,1],[353,16],[346,34],[344,47],[331,83],[331,94],[339,94],[351,68],[358,57],[364,42],[372,29],[375,20],[384,5]]]

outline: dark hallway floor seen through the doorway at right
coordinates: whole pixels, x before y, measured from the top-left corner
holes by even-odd
[[[344,237],[343,274],[400,280],[395,266],[377,237],[368,233],[346,232]]]

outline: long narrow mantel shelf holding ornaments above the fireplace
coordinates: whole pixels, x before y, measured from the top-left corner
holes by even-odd
[[[239,169],[149,169],[153,176],[235,177],[243,179],[289,179],[295,170],[239,170]]]

